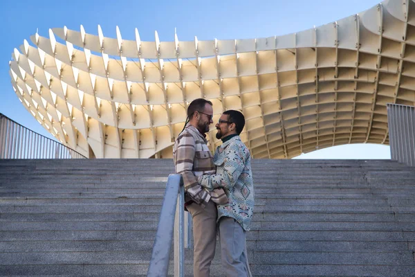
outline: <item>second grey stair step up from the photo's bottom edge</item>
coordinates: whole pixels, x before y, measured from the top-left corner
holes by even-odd
[[[192,253],[187,253],[192,260]],[[47,265],[59,260],[61,265],[123,265],[142,264],[151,258],[151,251],[82,251],[82,252],[33,252],[0,253],[0,265]],[[259,267],[261,265],[403,265],[414,262],[412,253],[347,253],[347,252],[278,252],[251,251],[248,260]],[[218,260],[219,262],[219,260]]]

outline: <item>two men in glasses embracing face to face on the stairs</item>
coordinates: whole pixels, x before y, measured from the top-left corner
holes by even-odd
[[[194,276],[210,276],[216,232],[225,276],[251,276],[246,231],[252,219],[254,187],[250,152],[239,137],[245,118],[239,111],[223,112],[215,125],[222,145],[213,157],[205,139],[213,123],[212,102],[193,100],[187,118],[174,143],[173,157],[176,173],[183,176],[185,208],[193,219]]]

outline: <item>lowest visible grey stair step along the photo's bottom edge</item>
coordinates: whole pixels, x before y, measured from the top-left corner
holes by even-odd
[[[148,265],[62,265],[59,266],[7,266],[3,267],[6,276],[44,276],[57,274],[55,276],[146,276],[137,272],[147,272]],[[191,262],[185,263],[185,276],[193,276]],[[1,270],[1,269],[0,269]],[[318,276],[318,277],[402,277],[411,276],[412,267],[405,266],[342,266],[342,265],[261,265],[261,267],[251,266],[254,276]],[[71,272],[71,275],[66,273]],[[169,275],[173,276],[174,270],[169,267]],[[0,274],[2,272],[0,271]],[[49,273],[49,274],[48,274]],[[35,275],[34,275],[35,274]],[[333,275],[335,274],[335,275]],[[51,275],[54,276],[54,275]],[[214,263],[211,266],[211,276],[223,276],[221,265]]]

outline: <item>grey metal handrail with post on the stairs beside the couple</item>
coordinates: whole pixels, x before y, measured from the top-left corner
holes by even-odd
[[[185,212],[185,189],[179,174],[169,175],[147,277],[167,276],[174,237],[174,276],[185,276],[185,248],[190,248],[191,217]]]

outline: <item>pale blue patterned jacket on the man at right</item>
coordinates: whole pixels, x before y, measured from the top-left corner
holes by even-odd
[[[223,216],[232,217],[248,231],[255,204],[248,148],[234,136],[216,148],[214,164],[216,174],[200,176],[198,181],[208,190],[223,188],[228,196],[228,204],[217,206],[218,222]]]

